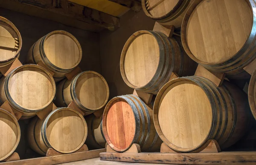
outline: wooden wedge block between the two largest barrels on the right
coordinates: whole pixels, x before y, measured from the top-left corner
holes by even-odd
[[[204,68],[202,65],[199,65],[199,64],[195,71],[195,76],[207,78],[207,79],[211,80],[217,86],[222,85],[225,75],[226,74],[224,74],[224,73],[208,71],[206,68]]]

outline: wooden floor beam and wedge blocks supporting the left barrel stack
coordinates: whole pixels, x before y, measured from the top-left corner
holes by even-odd
[[[47,69],[50,74],[54,74],[52,71],[50,71],[44,63],[40,62],[38,65],[42,66],[43,68]],[[16,59],[13,63],[0,68],[0,72],[3,74],[3,76],[7,76],[10,71],[13,69],[22,66],[20,61]],[[72,80],[73,77],[81,72],[81,68],[76,67],[73,71],[65,74],[68,80]],[[75,109],[76,111],[79,111],[84,116],[84,112],[80,110],[74,102],[71,102],[68,107]],[[17,120],[22,117],[22,114],[20,111],[15,110],[15,108],[12,108],[11,105],[9,105],[9,102],[6,101],[3,103],[3,105],[0,106],[0,108],[5,109],[6,111],[9,111],[14,117],[16,117]],[[54,105],[53,102],[51,102],[45,109],[42,111],[39,111],[36,113],[36,115],[43,120],[52,110],[55,110],[57,107]],[[102,114],[102,109],[99,111],[96,111],[93,113],[96,117],[99,117]],[[87,145],[82,145],[82,147],[71,154],[62,154],[58,151],[55,151],[53,148],[49,148],[47,150],[47,154],[44,157],[38,157],[38,158],[32,158],[32,159],[22,159],[20,160],[19,154],[17,152],[14,152],[12,155],[10,155],[8,158],[4,159],[2,162],[0,162],[0,165],[55,165],[60,163],[66,163],[66,162],[74,162],[79,160],[85,160],[85,159],[92,159],[99,157],[99,153],[105,152],[106,148],[97,149],[97,150],[88,150]]]

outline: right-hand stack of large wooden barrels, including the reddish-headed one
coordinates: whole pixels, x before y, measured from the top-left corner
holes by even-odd
[[[151,141],[154,132],[176,152],[200,152],[210,139],[221,149],[235,144],[250,129],[250,107],[256,116],[255,72],[249,85],[250,107],[244,91],[230,83],[246,79],[244,67],[256,57],[254,2],[142,0],[142,7],[162,27],[137,31],[128,38],[120,71],[129,87],[157,96],[153,109],[134,95],[108,102],[102,129],[109,146],[124,152],[137,143],[142,151],[150,151],[150,144],[157,150],[158,138]],[[180,35],[162,33],[170,26]],[[197,63],[208,74],[224,73],[229,80],[217,86],[193,76]],[[171,74],[178,78],[172,79]]]

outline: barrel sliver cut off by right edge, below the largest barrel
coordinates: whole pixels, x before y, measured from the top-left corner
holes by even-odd
[[[248,86],[248,100],[250,109],[253,113],[253,117],[256,119],[256,72],[253,71],[253,74],[250,78],[250,83]]]

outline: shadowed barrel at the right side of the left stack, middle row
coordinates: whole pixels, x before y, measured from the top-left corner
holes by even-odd
[[[102,108],[109,97],[108,83],[95,71],[84,71],[73,80],[62,80],[57,85],[55,105],[67,107],[72,101],[85,114],[91,114]]]

